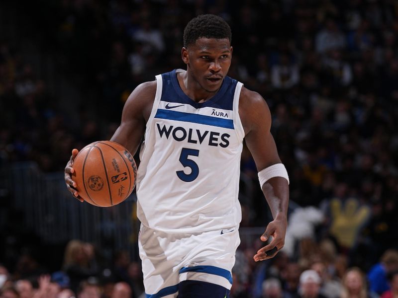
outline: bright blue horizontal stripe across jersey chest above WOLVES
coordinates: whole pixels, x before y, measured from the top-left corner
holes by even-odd
[[[234,129],[233,120],[231,119],[221,119],[211,116],[184,113],[173,110],[158,109],[155,118],[192,122],[192,123],[199,123],[204,125]]]

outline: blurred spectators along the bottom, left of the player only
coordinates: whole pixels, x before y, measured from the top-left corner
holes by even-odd
[[[143,298],[140,264],[126,251],[103,266],[92,244],[74,239],[65,247],[62,267],[50,272],[24,252],[12,273],[0,265],[1,298]]]

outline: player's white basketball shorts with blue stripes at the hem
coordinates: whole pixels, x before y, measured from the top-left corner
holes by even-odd
[[[138,247],[146,297],[175,298],[178,284],[202,281],[231,289],[238,227],[193,234],[164,233],[141,224]]]

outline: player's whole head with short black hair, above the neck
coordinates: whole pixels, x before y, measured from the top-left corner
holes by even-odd
[[[189,74],[206,91],[218,90],[228,73],[231,36],[227,22],[213,14],[193,18],[184,29],[183,61]]]

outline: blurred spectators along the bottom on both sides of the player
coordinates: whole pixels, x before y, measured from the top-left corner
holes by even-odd
[[[262,263],[254,248],[238,250],[232,270],[231,298],[395,298],[398,295],[398,250],[388,249],[368,272],[349,266],[333,244],[300,243],[300,258],[283,250]],[[245,256],[246,255],[246,256]],[[50,272],[25,251],[12,272],[0,264],[1,298],[145,298],[138,262],[126,251],[101,261],[92,244],[70,240],[59,270]]]

